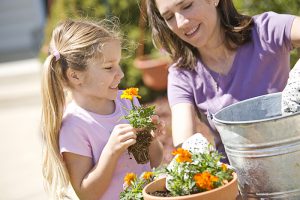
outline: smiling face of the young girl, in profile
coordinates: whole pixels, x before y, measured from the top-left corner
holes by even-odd
[[[80,94],[84,95],[86,102],[93,104],[116,98],[118,85],[124,77],[119,65],[120,60],[121,45],[119,41],[114,40],[104,44],[101,58],[89,62],[87,70],[82,72],[79,87]]]

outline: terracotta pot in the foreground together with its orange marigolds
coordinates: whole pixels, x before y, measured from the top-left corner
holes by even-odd
[[[191,153],[178,148],[165,168],[166,177],[143,189],[144,200],[235,200],[237,176],[231,167],[220,163],[222,157],[210,146],[206,152]]]

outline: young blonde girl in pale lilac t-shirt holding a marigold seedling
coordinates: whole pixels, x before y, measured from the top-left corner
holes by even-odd
[[[127,153],[136,130],[120,120],[131,109],[120,99],[124,74],[119,65],[121,39],[105,25],[65,21],[58,25],[44,63],[42,81],[43,175],[53,198],[63,199],[71,182],[80,199],[119,199],[123,177],[141,174],[162,160],[157,139],[150,165]],[[65,89],[72,94],[66,104]]]

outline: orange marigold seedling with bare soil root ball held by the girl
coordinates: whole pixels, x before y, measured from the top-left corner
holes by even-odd
[[[149,162],[149,146],[153,139],[151,131],[156,129],[153,123],[155,106],[136,106],[134,97],[141,98],[138,91],[138,88],[128,88],[123,91],[121,99],[130,100],[132,109],[124,118],[138,130],[136,143],[128,148],[128,153],[134,156],[138,164],[145,164]]]

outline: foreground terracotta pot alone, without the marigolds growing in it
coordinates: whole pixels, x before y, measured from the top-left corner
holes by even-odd
[[[237,175],[233,174],[233,180],[219,188],[186,196],[156,197],[149,193],[166,191],[166,178],[153,181],[143,189],[144,200],[236,200],[238,196]]]

